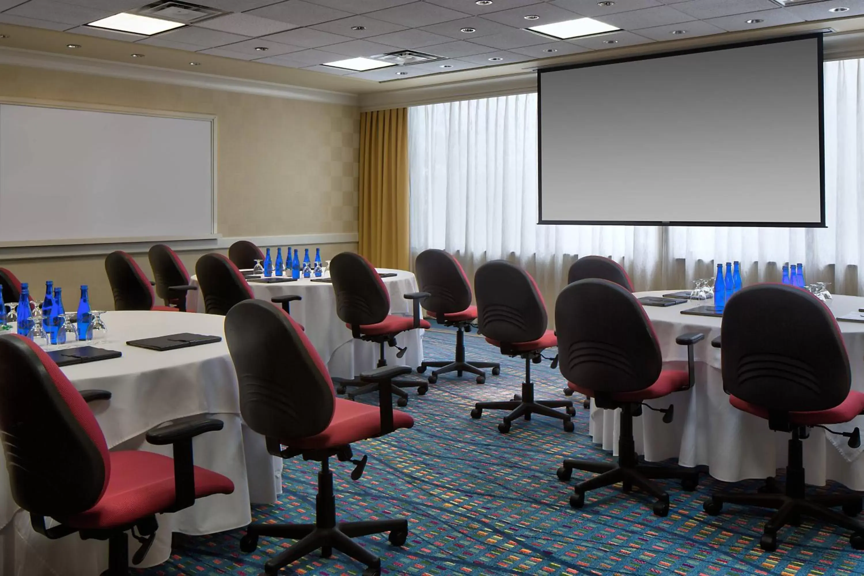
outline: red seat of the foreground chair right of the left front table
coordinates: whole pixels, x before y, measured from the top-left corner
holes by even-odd
[[[399,410],[393,410],[393,428],[410,428],[414,419]],[[283,441],[285,446],[301,450],[319,450],[346,446],[381,435],[381,412],[377,406],[369,406],[351,400],[335,399],[333,420],[321,434],[302,440]]]

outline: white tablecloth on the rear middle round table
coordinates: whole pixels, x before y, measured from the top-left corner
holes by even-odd
[[[416,278],[405,270],[378,269],[378,272],[394,273],[395,276],[383,278],[384,286],[390,294],[391,313],[410,315],[412,303],[403,294],[417,291]],[[198,278],[192,276],[197,285]],[[300,278],[296,282],[283,284],[261,284],[250,282],[252,293],[259,300],[270,301],[275,296],[297,294],[302,301],[291,302],[291,317],[306,328],[306,335],[315,350],[327,363],[330,376],[352,378],[364,370],[371,370],[378,364],[378,345],[372,342],[353,339],[351,330],[336,315],[336,294],[333,284],[312,282],[311,278]],[[198,291],[190,291],[187,308],[204,312]],[[423,359],[422,330],[402,332],[396,338],[399,346],[408,346],[403,358],[396,358],[397,350],[385,346],[388,364],[418,366]]]

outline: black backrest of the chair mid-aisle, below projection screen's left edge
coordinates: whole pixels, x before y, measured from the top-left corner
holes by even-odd
[[[477,326],[499,342],[530,342],[546,332],[548,318],[537,282],[524,269],[493,260],[474,274]]]

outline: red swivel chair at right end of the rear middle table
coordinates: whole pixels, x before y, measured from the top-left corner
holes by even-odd
[[[423,250],[417,255],[415,273],[420,291],[429,294],[423,301],[423,308],[435,315],[435,321],[443,326],[456,328],[456,358],[454,362],[428,362],[424,360],[417,371],[422,374],[427,368],[437,368],[429,375],[429,383],[434,384],[438,377],[448,372],[462,372],[477,376],[477,383],[486,382],[483,368],[491,368],[492,376],[498,376],[501,366],[497,362],[466,362],[465,332],[471,332],[477,320],[477,307],[471,306],[471,284],[462,265],[444,250]]]

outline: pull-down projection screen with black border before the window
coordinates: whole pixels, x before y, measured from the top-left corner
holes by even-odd
[[[540,224],[824,225],[822,36],[541,71]]]

